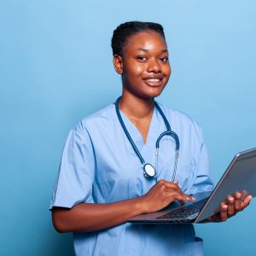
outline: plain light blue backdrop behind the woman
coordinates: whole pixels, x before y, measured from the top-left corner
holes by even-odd
[[[202,126],[214,182],[256,146],[256,2],[1,1],[1,255],[73,255],[49,199],[71,127],[121,93],[110,39],[127,20],[160,22],[172,77],[158,99]],[[255,255],[256,204],[198,224],[206,255]]]

